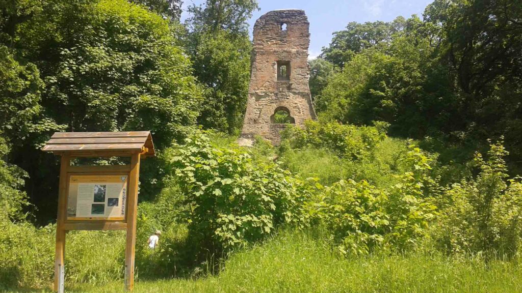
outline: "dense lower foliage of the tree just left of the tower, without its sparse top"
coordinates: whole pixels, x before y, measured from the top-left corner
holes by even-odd
[[[247,36],[230,32],[197,35],[192,59],[198,80],[205,85],[205,103],[198,123],[229,133],[240,129],[250,82],[250,52]]]

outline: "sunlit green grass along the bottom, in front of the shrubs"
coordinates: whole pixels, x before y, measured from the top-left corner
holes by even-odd
[[[312,233],[284,231],[234,254],[218,275],[138,281],[134,292],[520,292],[516,261],[457,259],[438,253],[340,258]],[[123,282],[72,292],[124,292]],[[11,290],[8,292],[15,292]],[[49,290],[42,290],[49,291]]]

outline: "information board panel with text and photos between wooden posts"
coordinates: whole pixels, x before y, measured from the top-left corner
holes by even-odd
[[[125,218],[127,174],[70,175],[67,219],[121,221]]]

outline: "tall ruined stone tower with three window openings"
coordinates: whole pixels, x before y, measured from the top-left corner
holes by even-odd
[[[299,126],[315,119],[308,86],[309,28],[304,11],[296,9],[270,11],[256,21],[242,138],[259,135],[279,143],[286,124],[278,123],[276,112],[286,112],[287,123]]]

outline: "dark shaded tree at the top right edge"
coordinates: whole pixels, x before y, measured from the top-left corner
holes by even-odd
[[[459,131],[476,141],[504,136],[510,161],[519,162],[522,1],[436,0],[424,16],[441,26],[441,62],[452,69],[464,122]]]

